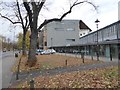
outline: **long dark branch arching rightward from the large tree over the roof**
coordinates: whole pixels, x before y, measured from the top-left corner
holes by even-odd
[[[49,19],[49,20],[45,20],[39,27],[38,27],[38,31],[44,26],[44,25],[46,25],[46,24],[48,24],[48,23],[50,23],[50,22],[52,22],[52,21],[62,21],[62,19],[64,18],[64,17],[66,17],[68,14],[70,14],[71,12],[72,12],[72,9],[73,9],[73,7],[75,7],[75,6],[77,6],[77,5],[79,5],[79,4],[82,4],[82,3],[88,3],[88,4],[91,4],[95,9],[97,9],[97,7],[93,4],[93,3],[91,3],[91,2],[88,2],[88,1],[82,1],[82,2],[77,2],[78,0],[76,0],[74,3],[73,3],[73,5],[72,6],[70,6],[70,9],[66,12],[66,13],[64,13],[60,18],[53,18],[53,19]]]

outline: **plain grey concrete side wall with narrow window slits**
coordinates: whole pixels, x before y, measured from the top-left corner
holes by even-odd
[[[47,47],[77,44],[79,41],[79,20],[52,22],[46,28]]]

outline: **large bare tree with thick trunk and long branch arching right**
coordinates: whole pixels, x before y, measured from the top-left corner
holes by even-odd
[[[46,2],[46,0],[39,0],[39,2],[35,2],[34,0],[31,0],[30,2],[28,2],[27,0],[23,0],[24,7],[25,7],[28,17],[29,17],[29,23],[30,23],[30,29],[31,29],[30,49],[29,49],[29,55],[28,55],[29,66],[34,66],[37,61],[37,58],[35,55],[35,50],[37,47],[38,31],[41,28],[43,28],[46,24],[48,24],[52,21],[62,21],[62,19],[65,16],[67,16],[68,14],[70,14],[72,12],[73,7],[75,7],[77,5],[80,5],[83,3],[88,3],[96,9],[96,6],[87,0],[81,1],[81,2],[79,0],[76,0],[70,6],[69,10],[67,12],[65,12],[60,18],[48,19],[48,20],[45,20],[42,24],[38,25],[38,16],[39,16],[39,13],[40,13],[41,9],[43,8],[45,2]]]

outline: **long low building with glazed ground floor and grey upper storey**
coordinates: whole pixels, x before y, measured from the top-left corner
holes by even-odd
[[[99,47],[96,48],[97,45]],[[91,56],[91,58],[96,57],[96,49],[98,49],[99,57],[102,59],[117,60],[120,57],[120,20],[79,38],[79,44],[54,49],[66,49],[67,52],[76,50],[80,54],[84,52],[86,56]]]

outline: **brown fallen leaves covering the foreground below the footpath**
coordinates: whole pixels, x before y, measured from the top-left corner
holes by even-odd
[[[118,67],[39,76],[35,77],[34,81],[35,88],[114,88],[118,85]],[[29,88],[29,82],[26,81],[14,87]]]

